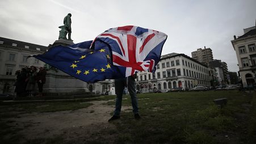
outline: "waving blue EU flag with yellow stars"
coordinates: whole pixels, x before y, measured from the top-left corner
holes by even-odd
[[[124,77],[117,67],[112,65],[108,45],[95,41],[96,49],[89,49],[92,42],[54,46],[48,52],[33,57],[85,82],[94,83]]]

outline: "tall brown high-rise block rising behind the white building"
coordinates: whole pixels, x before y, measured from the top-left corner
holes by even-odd
[[[192,58],[195,60],[203,63],[204,65],[209,65],[209,62],[213,60],[213,55],[212,55],[212,49],[211,48],[199,48],[196,51],[191,53]]]

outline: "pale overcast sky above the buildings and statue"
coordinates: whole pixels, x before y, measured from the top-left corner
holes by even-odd
[[[109,28],[139,26],[168,35],[163,54],[211,48],[213,59],[237,72],[231,40],[255,26],[255,0],[5,0],[0,1],[0,37],[48,46],[72,14],[74,43],[94,40]]]

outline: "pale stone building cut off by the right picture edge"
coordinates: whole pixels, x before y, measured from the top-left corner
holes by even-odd
[[[236,51],[239,73],[244,87],[253,86],[256,72],[256,26],[244,29],[244,35],[231,41]]]

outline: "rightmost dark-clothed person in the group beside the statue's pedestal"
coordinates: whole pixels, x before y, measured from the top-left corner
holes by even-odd
[[[39,72],[36,75],[36,82],[37,82],[38,91],[39,91],[39,94],[37,96],[43,96],[43,86],[46,81],[45,75],[46,75],[46,70],[44,69],[44,67],[40,67]]]

